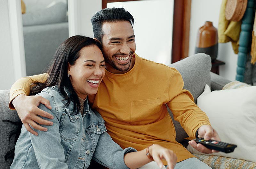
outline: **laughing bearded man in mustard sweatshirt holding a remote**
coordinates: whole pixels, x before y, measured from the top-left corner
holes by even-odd
[[[89,97],[92,107],[102,115],[109,135],[122,148],[131,146],[142,150],[157,143],[176,153],[175,169],[210,168],[175,141],[176,133],[166,104],[189,136],[195,137],[198,133],[205,139],[220,140],[217,132],[194,103],[191,93],[183,89],[182,77],[176,69],[135,54],[133,22],[132,15],[123,8],[103,9],[92,17],[94,37],[101,43],[106,61],[106,75],[99,90]],[[13,99],[10,107],[13,103],[26,129],[33,134],[37,133],[30,126],[47,131],[38,124],[51,125],[37,116],[51,118],[37,108],[40,103],[51,108],[49,101],[26,96],[29,84],[41,80],[46,79],[42,79],[42,75],[20,79],[10,93]],[[215,152],[195,141],[189,144],[204,153]]]

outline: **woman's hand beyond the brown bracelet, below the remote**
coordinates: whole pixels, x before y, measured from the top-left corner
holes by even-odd
[[[166,149],[158,144],[153,144],[149,147],[148,151],[160,168],[163,167],[163,162],[161,159],[165,159],[168,164],[167,168],[174,169],[177,156],[172,150]]]

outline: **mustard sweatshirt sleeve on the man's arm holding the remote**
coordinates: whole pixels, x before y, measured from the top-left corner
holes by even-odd
[[[178,70],[170,77],[168,107],[174,120],[179,121],[188,136],[195,137],[196,130],[202,125],[211,125],[207,115],[194,103],[192,94],[183,89],[184,82]]]

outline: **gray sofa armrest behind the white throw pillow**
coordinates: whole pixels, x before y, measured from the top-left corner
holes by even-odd
[[[221,77],[213,72],[210,72],[211,75],[211,90],[221,90],[226,84],[231,82],[230,80],[226,79],[225,77]]]

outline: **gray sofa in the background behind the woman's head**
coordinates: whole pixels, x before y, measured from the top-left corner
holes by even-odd
[[[68,38],[67,0],[23,0],[22,14],[27,76],[41,74],[56,49]]]

